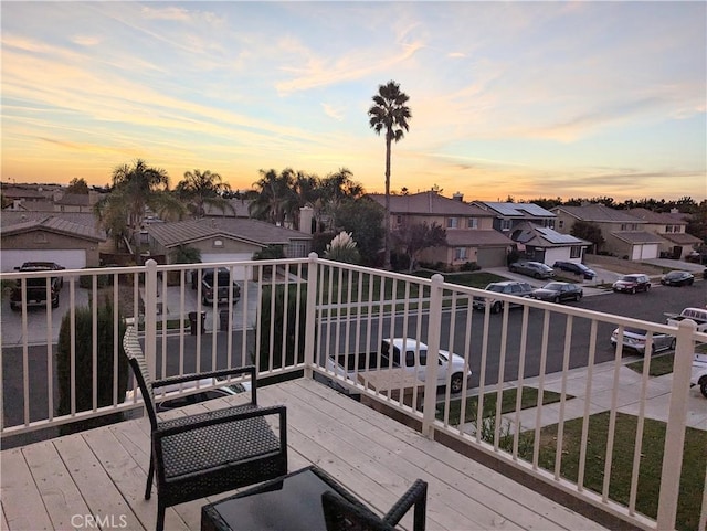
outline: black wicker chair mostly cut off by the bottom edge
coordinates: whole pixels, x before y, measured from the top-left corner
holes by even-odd
[[[395,525],[414,507],[413,531],[424,531],[428,506],[428,484],[415,482],[395,502],[384,517],[374,514],[361,503],[344,499],[331,491],[321,495],[327,531],[394,531]]]

